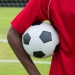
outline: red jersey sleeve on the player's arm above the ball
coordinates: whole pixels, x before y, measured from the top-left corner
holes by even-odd
[[[32,23],[45,19],[40,10],[40,2],[40,0],[30,0],[24,9],[11,22],[12,27],[20,34],[23,34]]]

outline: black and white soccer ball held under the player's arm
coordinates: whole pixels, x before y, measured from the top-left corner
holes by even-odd
[[[52,56],[58,50],[59,37],[52,25],[37,22],[24,32],[22,44],[30,56],[46,58]]]

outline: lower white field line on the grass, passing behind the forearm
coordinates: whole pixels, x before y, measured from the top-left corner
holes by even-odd
[[[19,60],[0,60],[0,63],[19,63]],[[33,61],[35,64],[51,64],[51,62],[47,61]]]

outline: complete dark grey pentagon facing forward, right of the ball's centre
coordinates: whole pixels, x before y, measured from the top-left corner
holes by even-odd
[[[39,37],[43,43],[47,43],[49,41],[52,41],[52,34],[48,31],[43,31]]]

